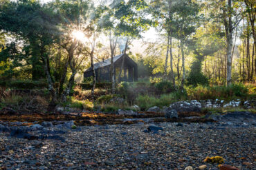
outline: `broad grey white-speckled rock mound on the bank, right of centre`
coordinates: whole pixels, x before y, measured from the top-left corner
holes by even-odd
[[[192,100],[193,102],[190,103],[188,101],[180,101],[173,103],[170,105],[170,109],[175,109],[178,112],[199,112],[201,111],[201,104],[199,102]]]

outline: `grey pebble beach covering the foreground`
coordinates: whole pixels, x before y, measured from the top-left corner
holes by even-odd
[[[95,125],[65,129],[65,140],[26,140],[0,133],[2,169],[218,169],[206,156],[222,156],[239,169],[256,169],[255,126],[218,123]],[[55,129],[56,127],[49,127]],[[62,129],[63,130],[63,129]],[[37,133],[34,131],[33,133]],[[57,133],[57,132],[56,132]],[[1,168],[0,168],[1,169]]]

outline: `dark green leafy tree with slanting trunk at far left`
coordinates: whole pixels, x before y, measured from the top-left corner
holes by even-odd
[[[0,30],[21,36],[30,44],[33,52],[38,52],[44,63],[51,104],[55,105],[56,92],[47,47],[58,39],[60,30],[57,25],[61,21],[60,16],[51,7],[38,1],[5,1],[1,5],[0,21]]]

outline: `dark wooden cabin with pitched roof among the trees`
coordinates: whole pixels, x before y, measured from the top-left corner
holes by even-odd
[[[123,61],[124,60],[124,61]],[[123,63],[123,67],[122,67]],[[117,82],[137,81],[138,65],[127,54],[120,54],[113,57],[114,74]],[[96,82],[111,82],[111,59],[94,64]],[[121,70],[122,68],[122,70]],[[120,74],[121,71],[121,74]],[[120,75],[120,77],[119,77]],[[84,78],[93,76],[93,70],[90,67],[84,72]]]

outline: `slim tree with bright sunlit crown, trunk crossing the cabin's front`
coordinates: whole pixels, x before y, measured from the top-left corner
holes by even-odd
[[[116,54],[118,37],[127,36],[131,40],[140,37],[140,33],[149,28],[151,22],[149,19],[144,19],[146,18],[146,13],[143,11],[145,8],[147,8],[147,3],[144,0],[112,1],[107,14],[104,15],[104,30],[109,36],[111,51],[112,93],[115,92],[116,83],[113,56]],[[128,44],[127,41],[125,49]]]

